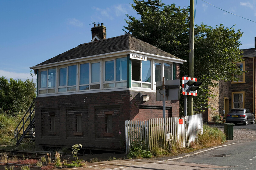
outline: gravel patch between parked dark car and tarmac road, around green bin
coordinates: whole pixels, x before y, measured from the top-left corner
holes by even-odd
[[[223,127],[218,127],[222,132],[224,132]],[[249,142],[256,141],[256,130],[252,129],[239,129],[233,128],[233,140],[227,140],[224,144],[227,143],[237,143],[237,142]]]

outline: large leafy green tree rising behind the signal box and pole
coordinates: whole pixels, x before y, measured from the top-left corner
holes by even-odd
[[[189,8],[165,5],[161,0],[133,0],[132,8],[140,19],[127,15],[124,32],[171,53],[186,63],[180,65],[180,77],[188,75],[189,59]],[[127,30],[127,31],[126,31]],[[203,82],[204,87],[216,87],[219,80],[236,79],[234,74],[242,74],[235,63],[241,62],[240,30],[227,28],[223,24],[213,28],[195,25],[194,77]],[[207,106],[213,97],[209,88],[200,88],[194,97],[194,107]],[[183,102],[183,100],[180,100]]]

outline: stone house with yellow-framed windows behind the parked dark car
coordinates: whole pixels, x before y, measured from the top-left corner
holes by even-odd
[[[235,75],[239,78],[238,81],[224,82],[219,80],[218,87],[210,87],[216,97],[208,101],[208,105],[214,109],[206,109],[203,114],[205,121],[212,120],[214,115],[224,115],[224,113],[226,115],[231,108],[247,108],[255,113],[256,46],[255,48],[242,49],[242,51],[243,61],[236,63],[236,65],[245,72],[242,75]]]

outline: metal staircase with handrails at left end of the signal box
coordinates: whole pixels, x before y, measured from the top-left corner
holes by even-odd
[[[20,123],[14,131],[14,138],[16,139],[16,146],[23,143],[28,143],[35,140],[35,114],[34,102],[30,105],[26,114],[21,119]],[[21,135],[19,135],[21,134]]]

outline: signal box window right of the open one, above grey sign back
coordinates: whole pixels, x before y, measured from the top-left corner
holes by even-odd
[[[172,64],[155,62],[155,82],[162,81],[162,75],[165,80],[172,80]]]

